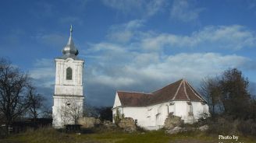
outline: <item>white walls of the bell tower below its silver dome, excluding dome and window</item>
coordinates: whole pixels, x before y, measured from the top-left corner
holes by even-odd
[[[55,96],[53,112],[53,126],[63,127],[64,124],[75,124],[76,114],[83,113],[84,94],[82,85],[84,61],[73,60],[72,58],[55,59]],[[72,79],[66,79],[66,68],[72,68]],[[70,106],[66,106],[69,100]],[[74,111],[74,109],[76,111]],[[65,111],[65,113],[63,113]],[[71,113],[73,112],[73,113]],[[74,116],[75,115],[75,116]]]

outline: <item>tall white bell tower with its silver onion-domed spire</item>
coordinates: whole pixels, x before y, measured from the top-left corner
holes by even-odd
[[[62,57],[55,58],[55,92],[52,106],[52,126],[61,128],[65,124],[77,124],[84,106],[83,68],[84,60],[77,58],[78,50],[73,43],[70,27],[69,41],[62,50]]]

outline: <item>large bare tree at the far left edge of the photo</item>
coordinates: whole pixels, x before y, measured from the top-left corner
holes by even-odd
[[[27,74],[20,72],[10,61],[0,59],[0,112],[7,127],[27,109],[24,100],[27,80]]]

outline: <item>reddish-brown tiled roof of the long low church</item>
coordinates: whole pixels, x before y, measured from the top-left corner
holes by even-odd
[[[148,106],[173,100],[206,102],[184,79],[151,93],[118,91],[117,94],[122,106]]]

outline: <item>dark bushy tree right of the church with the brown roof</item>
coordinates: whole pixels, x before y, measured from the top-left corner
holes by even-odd
[[[248,79],[238,69],[228,69],[214,78],[204,78],[201,94],[208,100],[212,115],[216,111],[234,118],[250,117],[251,95],[248,92]],[[217,110],[216,107],[219,107]]]

